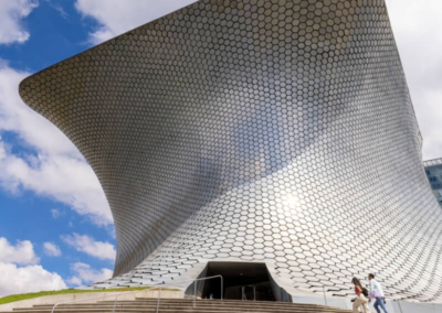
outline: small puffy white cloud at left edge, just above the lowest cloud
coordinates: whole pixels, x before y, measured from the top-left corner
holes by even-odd
[[[17,241],[15,246],[0,237],[0,262],[18,265],[35,265],[40,259],[35,256],[34,248],[29,240]]]

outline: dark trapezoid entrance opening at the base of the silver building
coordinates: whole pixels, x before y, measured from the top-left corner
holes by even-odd
[[[270,274],[264,263],[209,262],[204,277],[222,276],[223,298],[230,300],[275,301]],[[202,299],[220,299],[220,279],[206,280]]]

